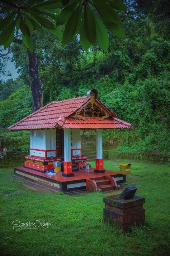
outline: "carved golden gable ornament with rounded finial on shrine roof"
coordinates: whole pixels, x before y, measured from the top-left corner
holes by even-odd
[[[98,117],[100,121],[112,116],[112,114],[98,100],[97,90],[92,89],[88,91],[87,97],[89,98],[89,101],[75,112],[75,116],[82,120],[86,120],[86,117]]]

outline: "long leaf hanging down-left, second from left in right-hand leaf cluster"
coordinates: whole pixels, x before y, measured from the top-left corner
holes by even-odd
[[[62,37],[62,45],[68,44],[72,37],[75,35],[79,28],[79,21],[80,21],[81,11],[79,6],[74,10],[72,15],[70,16],[69,20],[66,23],[65,30],[63,32]]]

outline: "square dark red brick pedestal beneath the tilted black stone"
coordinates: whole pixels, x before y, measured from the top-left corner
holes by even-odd
[[[144,197],[134,196],[132,199],[119,199],[120,194],[104,197],[104,223],[116,225],[124,231],[132,226],[145,222]]]

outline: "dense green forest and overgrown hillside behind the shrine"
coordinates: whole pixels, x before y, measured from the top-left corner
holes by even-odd
[[[132,123],[128,130],[104,131],[105,141],[114,150],[138,154],[169,155],[170,102],[170,19],[169,1],[124,1],[127,12],[120,13],[126,39],[109,34],[109,49],[98,44],[82,50],[79,36],[66,47],[44,31],[36,36],[36,51],[43,83],[43,105],[86,95],[97,89],[98,97],[119,119]],[[1,135],[11,140],[23,138],[17,148],[27,151],[27,132],[7,132],[6,127],[32,112],[28,58],[24,45],[13,43],[12,60],[19,78],[0,80]],[[1,57],[5,63],[8,56]],[[1,72],[4,70],[1,65]],[[111,146],[112,148],[112,146]]]

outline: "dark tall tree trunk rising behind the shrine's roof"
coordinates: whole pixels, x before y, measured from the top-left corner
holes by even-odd
[[[27,50],[29,63],[29,83],[32,92],[32,110],[33,112],[43,106],[43,85],[39,78],[38,57],[34,47],[33,52]]]

